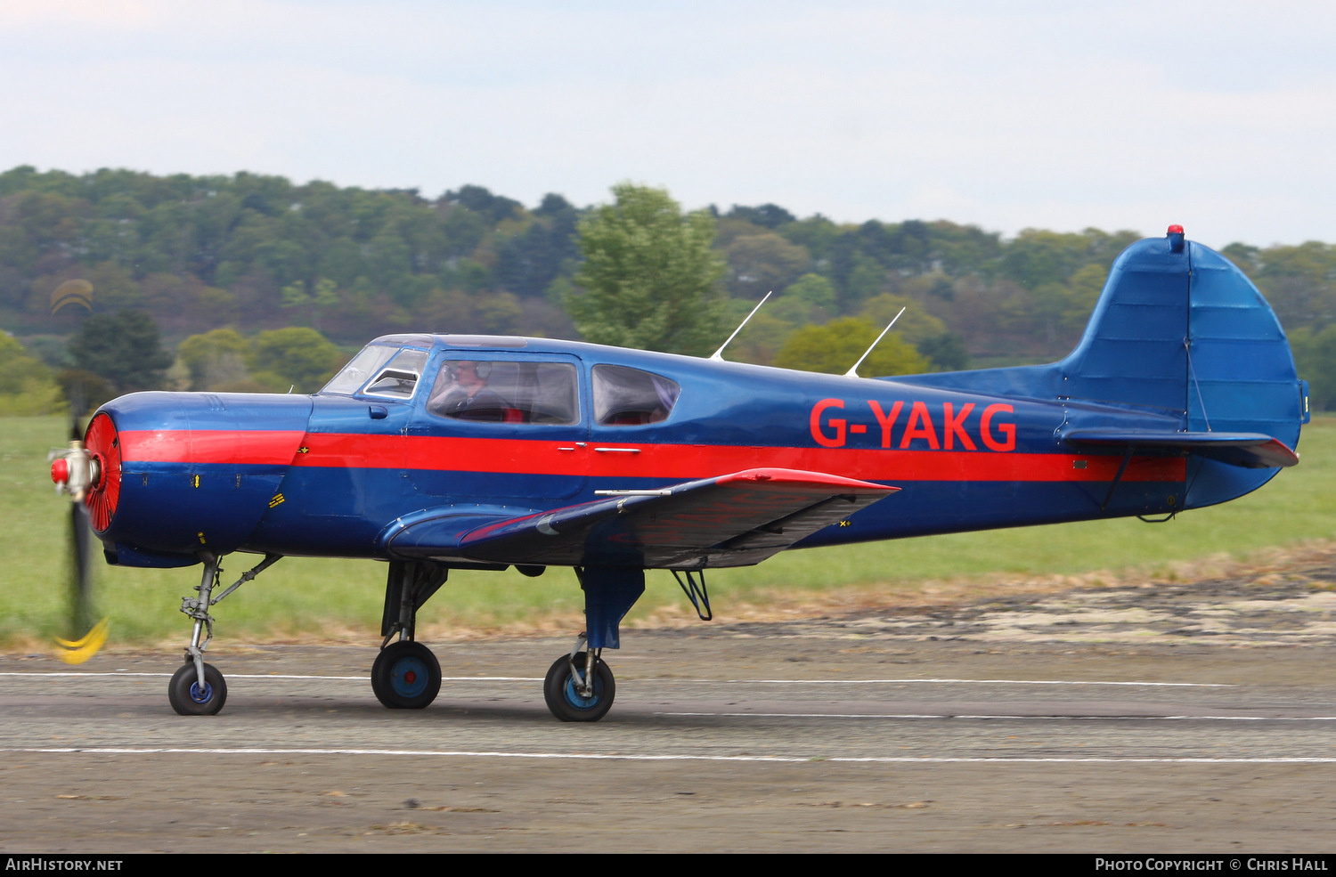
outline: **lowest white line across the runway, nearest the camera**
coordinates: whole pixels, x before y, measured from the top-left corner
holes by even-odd
[[[627,756],[611,753],[558,753],[558,752],[469,752],[450,749],[175,749],[175,748],[140,748],[140,746],[68,746],[68,748],[29,748],[8,749],[0,748],[0,753],[12,754],[44,754],[44,756],[381,756],[381,757],[409,757],[409,758],[532,758],[552,761],[728,761],[728,762],[768,762],[768,764],[802,764],[802,762],[846,762],[846,764],[886,764],[886,765],[965,765],[965,764],[1018,764],[1018,765],[1126,765],[1126,764],[1164,764],[1164,765],[1329,765],[1336,764],[1336,757],[1309,757],[1309,758],[1153,758],[1153,757],[1090,757],[1090,758],[1063,758],[1063,757],[947,757],[926,756],[915,758],[910,756]]]

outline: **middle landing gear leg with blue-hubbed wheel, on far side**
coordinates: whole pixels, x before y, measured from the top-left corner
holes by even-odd
[[[413,639],[417,610],[445,583],[449,567],[391,561],[381,617],[381,653],[371,665],[371,690],[391,710],[420,710],[441,690],[441,663]],[[397,641],[391,639],[398,637]]]

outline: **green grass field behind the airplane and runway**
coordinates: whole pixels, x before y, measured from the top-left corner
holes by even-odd
[[[56,418],[0,420],[0,646],[61,633],[67,499],[55,495],[47,450],[60,443]],[[1136,519],[900,539],[782,554],[766,563],[709,574],[716,618],[729,606],[856,599],[895,601],[941,579],[987,581],[1043,574],[1077,575],[1138,567],[1165,574],[1174,563],[1336,537],[1336,418],[1304,428],[1303,462],[1242,499],[1188,511],[1169,523]],[[258,558],[232,555],[228,582]],[[184,645],[188,622],[180,597],[192,594],[200,567],[99,567],[99,607],[112,641]],[[230,577],[228,577],[230,575]],[[224,641],[291,637],[375,638],[385,566],[371,561],[287,558],[215,607]],[[671,574],[651,571],[645,597],[628,622],[692,610]],[[580,590],[569,570],[541,578],[517,573],[453,573],[420,613],[425,630],[526,626],[569,630],[580,623]]]

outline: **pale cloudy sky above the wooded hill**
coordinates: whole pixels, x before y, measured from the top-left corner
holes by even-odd
[[[1328,3],[0,0],[0,170],[1336,242]]]

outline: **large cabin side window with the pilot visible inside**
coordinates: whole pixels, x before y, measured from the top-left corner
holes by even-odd
[[[450,359],[441,366],[426,410],[492,423],[577,423],[580,402],[570,363]]]

